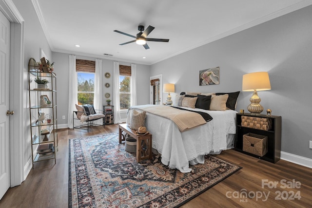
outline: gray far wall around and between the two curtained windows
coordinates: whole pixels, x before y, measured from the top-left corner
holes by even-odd
[[[54,72],[57,74],[58,84],[58,125],[61,127],[67,127],[67,115],[68,115],[68,56],[69,54],[53,52],[52,59],[55,62]],[[94,57],[76,56],[76,59],[95,60]],[[106,104],[105,94],[111,95],[110,99],[113,100],[113,60],[102,59],[103,76],[106,72],[111,74],[110,78],[103,77],[103,105]],[[121,65],[130,66],[131,63],[120,62]],[[149,103],[149,76],[150,66],[137,64],[137,104]],[[105,87],[105,83],[109,83],[110,87]],[[112,102],[111,105],[114,105]],[[65,119],[62,116],[65,115]],[[121,118],[126,118],[126,113],[121,113]],[[66,124],[66,125],[65,125]]]

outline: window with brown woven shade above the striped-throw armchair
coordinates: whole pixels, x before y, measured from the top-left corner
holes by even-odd
[[[96,62],[76,59],[78,104],[94,103]]]

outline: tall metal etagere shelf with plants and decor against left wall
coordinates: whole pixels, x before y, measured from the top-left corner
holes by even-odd
[[[42,72],[45,71],[45,72]],[[32,163],[52,160],[56,164],[58,151],[57,76],[47,68],[42,70],[34,58],[28,62],[29,117]],[[35,79],[47,79],[41,88]]]

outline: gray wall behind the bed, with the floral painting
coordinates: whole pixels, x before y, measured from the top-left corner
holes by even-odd
[[[242,89],[243,74],[268,71],[272,90],[258,95],[265,110],[282,116],[281,150],[312,159],[311,22],[309,6],[156,63],[151,76],[163,74],[163,83],[176,83],[176,93],[235,92]],[[220,84],[199,86],[199,71],[216,66]],[[240,93],[237,111],[248,112],[251,95]]]

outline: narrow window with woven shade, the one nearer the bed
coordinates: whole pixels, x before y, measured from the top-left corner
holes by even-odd
[[[120,110],[127,110],[130,107],[131,97],[131,66],[119,65],[119,99]]]

